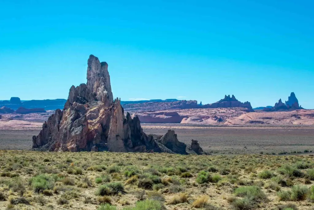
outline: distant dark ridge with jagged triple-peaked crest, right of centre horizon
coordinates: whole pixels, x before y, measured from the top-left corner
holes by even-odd
[[[230,95],[225,95],[224,99],[219,100],[218,102],[212,104],[205,104],[201,108],[234,108],[234,107],[242,107],[247,108],[249,112],[254,112],[252,109],[250,102],[240,102],[236,99],[234,95],[230,97]]]

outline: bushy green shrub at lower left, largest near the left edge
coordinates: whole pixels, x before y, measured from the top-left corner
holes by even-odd
[[[51,176],[46,174],[40,174],[35,177],[32,177],[29,181],[36,193],[42,193],[44,190],[51,190],[54,187],[54,181]]]

